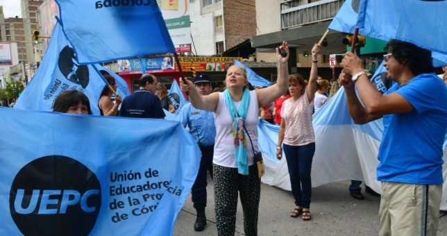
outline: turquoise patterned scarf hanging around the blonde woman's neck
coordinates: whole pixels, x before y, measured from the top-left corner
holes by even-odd
[[[248,89],[244,89],[242,94],[241,105],[239,110],[236,109],[235,102],[230,96],[228,90],[223,91],[225,97],[226,107],[230,112],[231,119],[233,120],[233,139],[235,144],[235,158],[237,163],[237,172],[239,174],[248,175],[248,161],[246,144],[247,139],[244,133],[244,121],[247,115],[248,106],[250,105],[250,92]]]

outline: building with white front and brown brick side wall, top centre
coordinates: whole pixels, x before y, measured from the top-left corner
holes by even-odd
[[[222,56],[256,33],[255,0],[190,0],[192,53]]]

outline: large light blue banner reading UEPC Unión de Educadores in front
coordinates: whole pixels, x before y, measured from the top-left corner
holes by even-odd
[[[173,234],[201,157],[179,122],[9,108],[0,122],[0,235]]]

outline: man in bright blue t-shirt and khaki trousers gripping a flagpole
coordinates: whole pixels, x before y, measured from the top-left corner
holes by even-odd
[[[341,61],[339,78],[355,124],[383,117],[377,167],[382,181],[379,235],[436,235],[447,89],[432,73],[430,51],[398,40],[389,41],[386,49],[387,78],[396,83],[383,95],[371,85],[362,59],[354,53]]]

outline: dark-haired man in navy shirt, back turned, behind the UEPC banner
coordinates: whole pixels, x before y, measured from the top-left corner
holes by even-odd
[[[119,110],[120,117],[137,118],[165,118],[162,103],[155,96],[157,78],[151,74],[144,74],[140,78],[140,90],[126,96]]]

